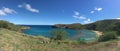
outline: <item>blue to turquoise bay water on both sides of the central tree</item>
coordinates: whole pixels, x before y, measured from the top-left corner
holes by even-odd
[[[29,26],[30,29],[24,30],[23,33],[35,36],[45,36],[51,37],[52,30],[59,30],[61,28],[52,28],[50,25],[24,25]],[[96,34],[90,30],[73,30],[73,29],[63,29],[68,34],[69,39],[77,40],[79,38],[84,38],[85,40],[92,40],[96,38]]]

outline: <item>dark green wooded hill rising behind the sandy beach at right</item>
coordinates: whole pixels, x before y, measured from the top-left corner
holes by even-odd
[[[85,24],[84,27],[85,29],[98,30],[102,32],[116,31],[117,34],[120,35],[120,20],[117,19],[101,20],[94,23]]]

